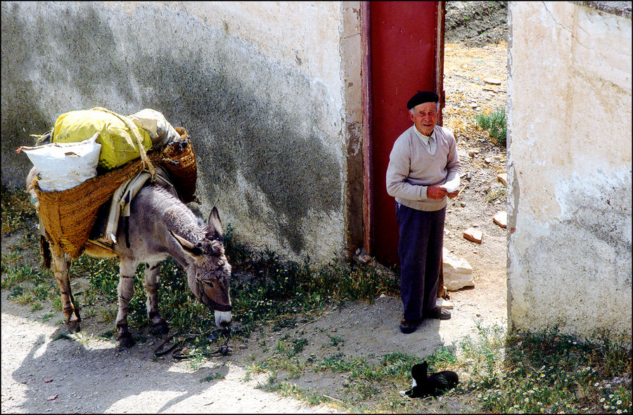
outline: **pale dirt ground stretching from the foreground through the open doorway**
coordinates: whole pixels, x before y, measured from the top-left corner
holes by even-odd
[[[496,14],[490,13],[491,19],[496,20],[487,23],[487,30],[492,34],[502,32],[504,36],[499,39],[492,35],[468,37],[468,34],[453,33],[449,25],[463,16],[466,8],[472,7],[466,3],[447,4],[444,125],[455,133],[463,166],[461,182],[465,187],[459,198],[449,203],[445,247],[471,264],[475,286],[449,291],[453,305],[451,320],[426,321],[413,334],[401,334],[398,323],[402,303],[399,298],[381,296],[372,303],[352,303],[306,317],[307,321],[300,327],[280,331],[264,327],[243,343],[231,341],[233,353],[230,355],[218,356],[194,370],[186,360],[153,360],[158,340],[122,350],[113,342],[97,338],[112,327],[98,323],[96,318],[85,319],[81,334],[72,341],[53,341],[64,329],[57,320],[60,313],[44,322],[42,317],[51,312],[49,306],[32,311],[9,301],[8,292],[3,290],[1,412],[331,413],[335,409],[309,406],[255,388],[266,381],[266,376],[245,381],[248,366],[269,357],[276,340],[286,335],[307,339],[301,354],[304,358],[310,354],[321,358],[342,353],[346,358],[366,357],[371,362],[395,352],[425,357],[442,344],[451,345],[474,334],[478,322],[505,325],[506,230],[494,224],[492,216],[506,209],[506,196],[500,193],[505,187],[497,180],[497,174],[505,172],[506,152],[490,142],[487,132],[475,126],[474,114],[505,107],[507,46],[503,39],[506,21],[504,15],[499,21]],[[504,13],[505,8],[499,10],[495,13]],[[464,24],[456,22],[455,25]],[[493,44],[478,43],[486,39],[494,39]],[[485,83],[484,79],[489,78],[499,79],[501,84]],[[496,194],[500,196],[493,198]],[[470,227],[483,232],[481,244],[463,238],[463,230]],[[3,252],[16,240],[15,235],[3,235]],[[328,345],[331,336],[343,341]],[[217,373],[224,377],[203,381]],[[300,379],[288,376],[279,380],[318,390],[333,398],[345,394],[346,378],[329,371],[309,371]],[[445,400],[436,405],[439,406],[429,410],[464,410],[458,400]]]

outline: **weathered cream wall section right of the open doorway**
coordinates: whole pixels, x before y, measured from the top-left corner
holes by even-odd
[[[631,338],[631,19],[511,2],[511,326]]]

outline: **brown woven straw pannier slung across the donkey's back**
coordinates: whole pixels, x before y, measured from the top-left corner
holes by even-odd
[[[169,143],[160,152],[150,151],[148,159],[163,166],[172,176],[172,183],[185,203],[195,199],[198,168],[188,133],[175,128],[180,140]],[[84,251],[90,231],[96,221],[99,206],[107,202],[125,180],[146,169],[141,159],[127,162],[119,169],[90,178],[81,185],[61,192],[44,192],[34,183],[39,201],[39,217],[46,230],[46,239],[75,259]]]

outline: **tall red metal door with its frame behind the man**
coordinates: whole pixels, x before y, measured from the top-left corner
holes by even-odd
[[[411,126],[406,103],[417,91],[444,94],[444,1],[363,1],[364,249],[399,263],[395,202],[385,174],[398,136]]]

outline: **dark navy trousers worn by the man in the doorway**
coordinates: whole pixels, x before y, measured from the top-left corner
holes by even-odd
[[[446,208],[418,211],[396,202],[396,216],[404,318],[418,320],[425,310],[433,310],[437,301]]]

